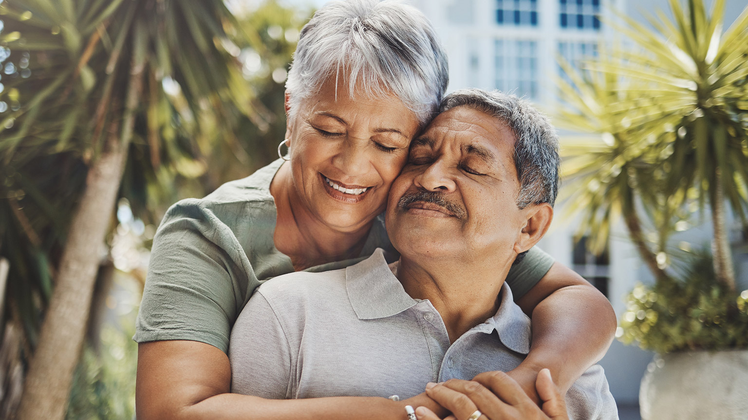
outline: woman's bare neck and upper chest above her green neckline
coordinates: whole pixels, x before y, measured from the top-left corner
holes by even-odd
[[[270,185],[275,199],[275,247],[290,257],[295,271],[361,254],[372,223],[353,232],[340,232],[322,223],[300,203],[288,164],[283,164]]]

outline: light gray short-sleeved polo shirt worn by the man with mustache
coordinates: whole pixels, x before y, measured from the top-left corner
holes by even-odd
[[[260,285],[231,331],[231,391],[263,398],[339,395],[409,398],[428,382],[509,371],[530,351],[530,319],[504,283],[493,318],[450,345],[429,300],[414,300],[381,250],[323,273]],[[603,369],[569,389],[572,419],[617,419]]]

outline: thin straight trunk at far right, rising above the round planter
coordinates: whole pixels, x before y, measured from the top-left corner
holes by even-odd
[[[714,274],[717,275],[717,281],[726,285],[729,290],[735,291],[735,270],[732,267],[732,252],[726,226],[722,171],[717,169],[714,179],[714,197],[711,203],[711,223],[714,227],[714,241],[711,245]]]

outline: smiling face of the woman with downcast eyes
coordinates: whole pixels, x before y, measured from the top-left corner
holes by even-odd
[[[301,205],[326,226],[353,232],[384,211],[418,120],[396,96],[349,96],[328,78],[286,123],[292,182]],[[294,200],[295,199],[295,200]]]

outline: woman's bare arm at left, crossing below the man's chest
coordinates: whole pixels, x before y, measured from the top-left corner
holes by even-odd
[[[191,419],[406,419],[405,405],[444,413],[425,394],[405,401],[376,397],[266,400],[230,394],[226,353],[184,340],[138,345],[135,409],[138,420]]]

